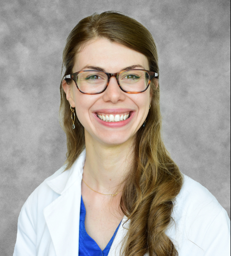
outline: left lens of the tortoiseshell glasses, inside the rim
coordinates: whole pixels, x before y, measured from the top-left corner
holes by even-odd
[[[107,75],[100,71],[82,71],[76,79],[79,90],[89,94],[101,92],[108,81]]]

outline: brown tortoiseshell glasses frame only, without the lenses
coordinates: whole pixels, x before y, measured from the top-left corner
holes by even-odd
[[[146,71],[146,72],[148,73],[148,75],[149,75],[149,81],[148,81],[148,83],[147,83],[147,86],[146,86],[145,90],[134,92],[134,91],[126,91],[126,90],[124,90],[124,89],[121,87],[120,82],[119,82],[119,75],[120,75],[122,72],[124,72],[124,71],[130,71],[130,70],[122,70],[122,71],[117,72],[117,73],[107,73],[107,72],[103,72],[103,71],[99,71],[99,70],[81,70],[81,71],[79,71],[79,72],[76,72],[76,73],[73,73],[73,74],[70,74],[70,75],[65,76],[64,79],[65,79],[65,80],[66,80],[66,79],[72,79],[72,80],[75,82],[76,87],[78,88],[78,90],[79,90],[81,93],[84,93],[84,94],[99,94],[99,93],[104,92],[104,91],[107,89],[111,77],[116,77],[116,80],[117,80],[117,83],[118,83],[118,86],[120,87],[120,89],[121,89],[122,91],[124,91],[124,92],[127,92],[127,93],[140,93],[140,92],[146,91],[147,88],[148,88],[148,86],[150,85],[150,83],[151,83],[151,81],[152,81],[152,78],[158,77],[158,73],[153,72],[153,71],[142,70],[142,69],[135,69],[135,70]],[[83,91],[81,91],[81,90],[79,89],[78,84],[77,84],[77,75],[78,75],[79,73],[82,73],[82,72],[85,72],[85,71],[96,71],[96,72],[101,72],[101,73],[104,73],[104,74],[107,75],[107,77],[108,77],[108,82],[106,83],[106,85],[105,85],[105,87],[104,87],[104,89],[103,89],[102,91],[96,92],[96,93],[87,93],[87,92],[83,92]],[[67,80],[66,80],[66,81],[67,81]]]

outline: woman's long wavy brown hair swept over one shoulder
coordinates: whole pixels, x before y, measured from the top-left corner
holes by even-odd
[[[159,73],[157,49],[151,33],[128,16],[104,12],[82,19],[69,34],[63,51],[64,76],[73,73],[74,58],[80,46],[95,38],[106,38],[144,54],[150,70]],[[129,220],[121,253],[125,256],[144,256],[146,253],[149,256],[178,256],[165,230],[172,220],[174,200],[181,190],[183,177],[164,147],[159,86],[156,89],[155,80],[151,83],[151,90],[151,108],[146,126],[136,134],[134,165],[124,182],[120,202]],[[68,169],[85,147],[84,127],[77,117],[76,128],[72,129],[71,109],[62,84],[60,91],[60,120],[67,134]]]

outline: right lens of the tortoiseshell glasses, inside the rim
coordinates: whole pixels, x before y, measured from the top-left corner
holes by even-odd
[[[146,89],[149,74],[143,70],[126,70],[120,73],[119,82],[127,92],[140,92]]]

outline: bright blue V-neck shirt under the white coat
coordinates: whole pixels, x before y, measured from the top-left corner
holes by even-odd
[[[108,256],[111,244],[116,237],[116,233],[119,229],[120,224],[118,225],[114,235],[111,237],[111,240],[102,251],[94,239],[92,239],[85,230],[85,216],[86,210],[83,198],[81,197],[80,205],[80,220],[79,220],[79,256]]]

